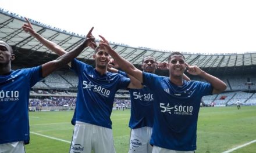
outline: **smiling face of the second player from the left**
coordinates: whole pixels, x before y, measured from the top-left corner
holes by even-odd
[[[99,50],[94,54],[96,67],[106,68],[109,62],[109,54],[103,50]]]

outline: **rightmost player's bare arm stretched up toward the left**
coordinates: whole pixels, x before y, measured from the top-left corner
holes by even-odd
[[[115,52],[109,45],[108,41],[101,35],[101,41],[99,42],[99,48],[102,50],[105,50],[105,52],[108,52],[111,57],[118,63],[119,67],[125,71],[127,74],[130,74],[132,77],[136,78],[139,82],[143,83],[143,73],[142,71],[138,70],[136,67],[134,67],[133,64],[131,64],[126,59],[123,59],[118,53]]]

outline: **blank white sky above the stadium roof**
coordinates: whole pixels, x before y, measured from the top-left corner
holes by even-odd
[[[0,8],[62,30],[131,47],[256,52],[256,1],[0,0]]]

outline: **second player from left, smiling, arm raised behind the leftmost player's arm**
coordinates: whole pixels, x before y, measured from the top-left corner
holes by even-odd
[[[47,48],[59,56],[67,52],[61,46],[48,41],[33,30],[27,21],[30,34]],[[95,44],[92,46],[95,48]],[[74,125],[73,140],[70,153],[115,152],[113,145],[112,122],[110,119],[115,93],[118,89],[142,88],[136,79],[107,71],[109,54],[100,48],[95,48],[93,55],[95,68],[74,59],[71,68],[79,77],[76,109],[72,124]]]

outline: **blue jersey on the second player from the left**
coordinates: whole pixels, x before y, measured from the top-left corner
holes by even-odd
[[[72,124],[81,121],[111,129],[115,93],[118,89],[127,88],[130,79],[111,72],[101,75],[91,65],[76,59],[72,61],[72,69],[79,77]]]

